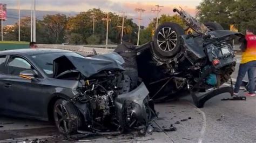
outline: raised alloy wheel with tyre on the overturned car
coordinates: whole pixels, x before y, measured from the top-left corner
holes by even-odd
[[[166,22],[158,26],[154,33],[153,50],[161,58],[171,58],[180,52],[180,36],[185,35],[177,23]]]

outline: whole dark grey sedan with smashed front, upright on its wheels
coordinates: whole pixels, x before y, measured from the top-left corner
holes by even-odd
[[[144,83],[130,90],[117,53],[84,57],[52,49],[0,52],[0,114],[55,121],[60,133],[152,132]]]

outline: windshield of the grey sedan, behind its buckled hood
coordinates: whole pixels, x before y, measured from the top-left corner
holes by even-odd
[[[42,69],[49,77],[53,74],[53,60],[61,56],[74,56],[83,57],[75,52],[56,52],[56,53],[42,53],[38,55],[33,55],[33,61]],[[83,57],[84,58],[84,57]]]

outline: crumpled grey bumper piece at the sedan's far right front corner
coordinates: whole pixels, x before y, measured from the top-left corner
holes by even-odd
[[[134,128],[147,131],[154,117],[153,101],[149,100],[149,91],[144,83],[135,90],[121,94],[114,100],[117,116],[122,130]]]

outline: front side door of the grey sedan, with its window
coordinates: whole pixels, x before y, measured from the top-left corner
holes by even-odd
[[[29,60],[20,56],[10,56],[6,64],[5,76],[5,110],[18,117],[41,117],[42,80]],[[19,76],[24,70],[33,70],[35,79],[25,79]]]

